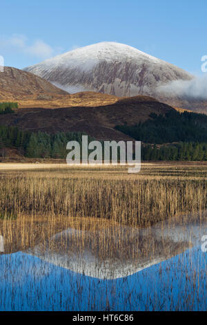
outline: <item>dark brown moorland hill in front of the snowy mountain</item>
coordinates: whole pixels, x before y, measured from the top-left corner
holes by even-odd
[[[130,140],[114,127],[126,123],[133,125],[147,120],[150,113],[165,114],[169,111],[174,109],[154,98],[137,96],[106,106],[20,109],[15,114],[1,115],[0,124],[34,132],[75,131],[101,140]]]

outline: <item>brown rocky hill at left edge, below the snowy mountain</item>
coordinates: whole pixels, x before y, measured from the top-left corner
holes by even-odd
[[[17,68],[5,67],[0,73],[0,100],[17,101],[23,97],[44,100],[55,95],[68,94],[41,77]]]

